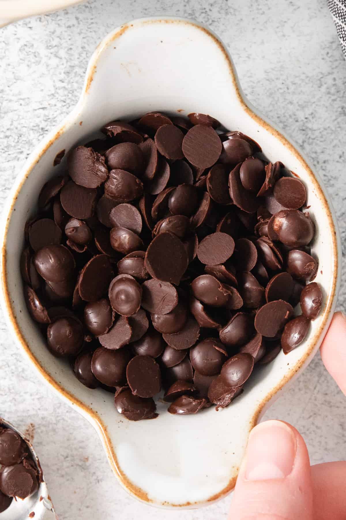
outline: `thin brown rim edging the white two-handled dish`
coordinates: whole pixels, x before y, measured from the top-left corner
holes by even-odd
[[[88,93],[90,85],[94,79],[94,75],[97,71],[98,59],[99,59],[103,49],[106,48],[110,43],[117,40],[117,38],[119,38],[122,34],[127,32],[128,30],[132,29],[134,27],[134,25],[138,26],[141,24],[143,25],[143,24],[152,24],[152,23],[179,23],[179,24],[192,25],[192,27],[204,32],[207,36],[209,36],[211,38],[213,43],[217,45],[217,47],[223,54],[224,58],[228,62],[229,74],[231,76],[233,87],[236,90],[238,100],[241,103],[243,110],[248,115],[250,115],[251,118],[254,121],[256,121],[260,126],[264,127],[269,133],[271,133],[273,136],[275,136],[277,139],[279,139],[282,142],[282,144],[290,151],[290,153],[292,153],[298,159],[298,161],[301,163],[302,167],[307,171],[307,173],[310,177],[311,183],[314,186],[316,192],[319,194],[322,205],[324,206],[325,212],[328,217],[329,227],[332,232],[333,256],[334,256],[334,265],[333,265],[334,276],[333,276],[333,283],[332,283],[331,291],[328,295],[327,302],[323,309],[323,315],[322,315],[322,321],[321,321],[320,327],[317,330],[317,332],[315,333],[314,341],[309,346],[309,349],[307,350],[307,352],[305,353],[303,358],[300,359],[294,367],[291,367],[290,373],[285,375],[284,378],[282,379],[282,381],[280,382],[280,384],[278,384],[274,388],[272,388],[271,391],[269,392],[269,394],[264,399],[262,399],[260,404],[257,406],[256,410],[253,413],[253,417],[248,425],[248,434],[250,434],[250,431],[252,430],[252,428],[257,424],[262,411],[264,411],[264,407],[266,406],[266,404],[272,399],[272,397],[276,393],[279,392],[280,389],[283,388],[283,386],[290,379],[293,378],[293,376],[300,370],[300,368],[306,363],[308,358],[311,356],[311,354],[317,344],[317,341],[319,341],[319,339],[320,339],[320,335],[323,332],[323,329],[326,327],[326,324],[327,324],[327,321],[328,321],[328,318],[330,315],[330,311],[331,311],[331,308],[333,307],[333,303],[334,303],[335,296],[336,296],[337,278],[338,278],[337,233],[336,233],[336,229],[335,229],[335,225],[334,225],[334,220],[333,220],[333,216],[331,215],[331,211],[329,208],[329,204],[326,200],[325,194],[324,194],[320,184],[317,182],[315,175],[313,174],[311,168],[306,163],[305,159],[302,158],[301,154],[296,150],[296,148],[279,131],[277,131],[275,128],[273,128],[271,125],[269,125],[266,121],[262,120],[256,113],[254,113],[251,110],[250,107],[247,106],[246,101],[241,94],[240,86],[239,86],[238,79],[237,79],[237,74],[233,67],[231,58],[228,55],[226,47],[223,45],[223,43],[220,40],[218,40],[218,38],[212,32],[210,32],[205,27],[201,27],[201,25],[199,25],[196,22],[193,22],[190,20],[185,20],[185,19],[169,19],[169,18],[168,19],[162,19],[162,18],[155,19],[154,18],[154,19],[147,19],[147,20],[146,19],[134,20],[132,23],[122,25],[116,32],[111,33],[108,37],[106,36],[106,38],[98,45],[98,47],[96,47],[96,50],[93,55],[94,56],[93,62],[91,62],[88,66],[88,72],[87,72],[87,77],[86,77],[84,89],[82,92],[82,96],[85,96]],[[107,432],[107,427],[103,424],[99,414],[97,412],[95,412],[92,408],[90,408],[89,406],[85,405],[84,402],[80,401],[76,396],[74,396],[70,392],[67,392],[66,389],[64,389],[58,383],[58,381],[56,379],[52,378],[52,376],[45,371],[45,369],[41,366],[38,359],[32,353],[29,345],[26,344],[25,339],[20,330],[20,327],[17,323],[17,319],[16,319],[15,313],[12,308],[11,298],[10,298],[10,294],[8,291],[8,285],[7,285],[6,240],[7,240],[8,226],[9,226],[11,214],[13,211],[13,206],[16,203],[18,193],[21,190],[26,178],[29,176],[33,167],[37,164],[37,162],[40,160],[42,155],[50,148],[50,146],[53,144],[53,142],[55,142],[60,137],[60,135],[63,133],[64,127],[65,127],[65,125],[62,124],[60,129],[57,131],[56,135],[52,139],[49,140],[49,142],[39,152],[39,154],[37,155],[35,160],[32,162],[32,164],[27,168],[26,173],[23,176],[19,187],[17,188],[16,195],[12,199],[12,204],[10,206],[10,210],[9,210],[7,218],[6,218],[4,242],[3,242],[2,256],[1,256],[2,284],[3,284],[3,290],[4,290],[5,305],[6,305],[8,315],[9,315],[9,319],[11,321],[12,328],[15,331],[17,339],[20,341],[26,355],[30,358],[33,365],[40,372],[40,374],[45,378],[45,380],[51,386],[53,386],[53,388],[56,389],[56,391],[59,392],[65,399],[70,401],[72,405],[76,405],[81,411],[84,412],[84,414],[87,414],[89,419],[93,420],[93,425],[94,425],[95,429],[98,430],[99,436],[100,436],[101,440],[103,441],[103,444],[106,448],[107,458],[109,460],[110,465],[113,468],[113,471],[117,475],[117,477],[118,477],[120,483],[122,484],[122,486],[124,487],[124,489],[126,489],[131,495],[133,495],[137,499],[147,502],[148,504],[151,503],[153,505],[167,506],[170,508],[172,508],[172,507],[193,508],[198,505],[203,505],[203,504],[207,504],[207,503],[213,502],[215,500],[218,500],[218,499],[224,497],[225,495],[227,495],[227,493],[229,493],[234,488],[234,485],[236,484],[236,480],[237,480],[238,471],[239,471],[238,467],[235,467],[235,468],[233,467],[231,469],[232,476],[230,476],[230,480],[229,480],[229,483],[227,484],[227,486],[225,486],[221,491],[219,491],[215,495],[213,495],[213,496],[207,498],[205,501],[201,501],[201,502],[186,502],[184,504],[172,504],[170,502],[157,502],[153,499],[150,499],[148,497],[148,494],[146,491],[144,491],[143,489],[134,485],[120,468],[120,465],[117,461],[115,450],[112,445],[112,441],[110,440],[110,437]]]

